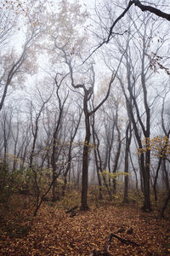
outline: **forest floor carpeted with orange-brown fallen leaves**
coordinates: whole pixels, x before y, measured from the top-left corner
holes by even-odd
[[[22,207],[16,204],[22,201]],[[105,251],[111,234],[111,255],[170,255],[170,219],[142,212],[139,204],[90,202],[90,209],[66,213],[77,201],[44,202],[32,218],[31,199],[17,195],[1,212],[0,255],[89,255]],[[68,207],[69,206],[69,207]],[[74,214],[72,214],[74,213]],[[126,243],[124,243],[126,241]],[[98,255],[98,254],[96,254]]]

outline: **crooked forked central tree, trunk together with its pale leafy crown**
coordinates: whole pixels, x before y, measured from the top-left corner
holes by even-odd
[[[114,73],[112,73],[109,82],[109,89],[105,98],[99,103],[97,107],[90,111],[89,102],[94,95],[95,84],[94,65],[92,63],[89,65],[84,65],[82,70],[75,67],[75,63],[81,63],[82,61],[81,53],[85,42],[87,42],[87,38],[82,36],[81,32],[79,32],[79,26],[82,24],[82,22],[86,21],[87,15],[85,13],[80,17],[80,14],[82,14],[80,5],[77,3],[69,4],[65,3],[65,1],[61,1],[58,19],[56,20],[57,23],[53,21],[53,24],[50,28],[50,35],[52,42],[54,42],[52,53],[57,53],[54,57],[54,60],[56,60],[56,56],[59,56],[60,60],[65,62],[65,70],[68,70],[68,73],[65,72],[65,77],[68,74],[70,75],[72,89],[79,90],[83,98],[85,137],[82,153],[82,210],[86,210],[88,209],[88,146],[91,137],[90,116],[94,114],[108,98],[111,90],[111,84],[113,83],[116,76]],[[56,25],[59,26],[60,32],[56,31]],[[69,37],[65,37],[65,28],[67,32],[69,32]],[[54,60],[53,63],[55,63]],[[58,63],[57,61],[56,67]],[[75,73],[79,73],[79,75],[76,76]]]

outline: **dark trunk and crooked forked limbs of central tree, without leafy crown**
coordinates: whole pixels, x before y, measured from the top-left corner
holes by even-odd
[[[86,83],[75,83],[75,78],[74,78],[74,72],[73,72],[73,67],[72,67],[72,60],[71,58],[68,57],[65,51],[65,46],[63,48],[57,46],[55,44],[55,47],[58,48],[64,56],[65,63],[67,67],[69,67],[70,71],[70,76],[71,76],[71,85],[74,89],[82,89],[83,91],[83,113],[85,117],[85,138],[84,138],[84,145],[83,145],[83,153],[82,153],[82,210],[87,210],[88,209],[88,201],[87,201],[87,195],[88,195],[88,149],[89,149],[89,142],[90,142],[90,137],[91,137],[91,131],[90,131],[90,116],[94,114],[107,100],[108,96],[110,95],[111,91],[111,84],[113,83],[114,79],[116,78],[116,73],[118,71],[118,68],[120,66],[119,62],[118,67],[116,69],[116,73],[112,73],[111,79],[109,82],[109,87],[107,90],[107,93],[104,97],[104,99],[99,102],[97,107],[95,107],[93,110],[89,110],[88,108],[88,102],[94,95],[94,83],[95,83],[95,73],[94,73],[94,67],[93,65],[90,67],[86,75],[89,73],[89,82]]]

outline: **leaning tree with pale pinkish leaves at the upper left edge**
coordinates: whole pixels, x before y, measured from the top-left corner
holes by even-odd
[[[5,4],[7,4],[7,13],[3,13],[3,8],[0,9],[0,15],[2,17],[0,20],[0,28],[2,30],[0,35],[0,111],[3,108],[6,97],[8,96],[9,86],[14,88],[16,84],[18,85],[19,83],[24,82],[24,74],[35,72],[36,52],[33,49],[33,46],[35,45],[37,38],[40,37],[42,32],[41,23],[37,22],[38,18],[36,17],[36,9],[34,9],[34,13],[32,14],[31,11],[29,11],[29,13],[27,12],[29,10],[27,8],[27,11],[24,14],[26,19],[26,27],[24,24],[20,23],[20,26],[24,26],[24,32],[21,34],[21,36],[24,38],[24,44],[22,44],[21,49],[19,49],[19,45],[12,45],[12,49],[9,50],[9,42],[15,40],[14,33],[18,32],[20,34],[20,26],[17,28],[16,23],[18,12],[20,12],[20,9],[23,9],[21,4],[15,2],[8,3],[8,1],[6,1],[4,6]],[[13,11],[10,9],[10,4],[12,5]],[[37,8],[40,8],[40,5]],[[23,15],[22,11],[21,15]],[[34,22],[32,22],[33,19]],[[6,44],[7,47],[5,48],[4,46],[6,46]]]

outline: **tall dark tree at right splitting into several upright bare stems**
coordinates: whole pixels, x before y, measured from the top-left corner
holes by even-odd
[[[122,61],[122,63],[124,67],[127,69],[127,89],[125,88],[123,82],[123,76],[121,75],[121,77],[117,77],[120,81],[120,85],[122,86],[122,91],[127,102],[127,113],[129,119],[133,124],[133,131],[139,148],[142,147],[142,134],[145,137],[145,139],[150,138],[150,106],[152,104],[150,103],[149,89],[147,86],[148,81],[150,79],[150,70],[147,68],[147,65],[149,64],[148,60],[145,58],[145,56],[147,55],[147,51],[149,50],[148,44],[150,44],[150,38],[146,37],[148,22],[149,20],[144,20],[140,30],[138,30],[138,28],[136,27],[137,32],[139,34],[139,38],[141,38],[142,40],[140,41],[142,42],[140,48],[137,46],[138,43],[135,43],[135,53],[136,55],[139,55],[139,59],[141,60],[141,64],[139,67],[137,67],[137,65],[139,65],[139,61],[135,61],[135,56],[133,56],[133,50],[130,46],[130,38],[133,38],[134,32],[131,31],[127,33],[126,36],[127,49],[126,54],[124,55],[125,61]],[[132,41],[134,42],[134,40]],[[118,44],[119,49],[121,49],[121,47],[124,48],[124,45],[121,46],[118,40],[116,42]],[[120,51],[122,51],[122,49]],[[140,98],[140,104],[138,98]],[[143,105],[141,102],[143,103]],[[143,154],[140,154],[139,166],[140,171],[142,173],[144,184],[143,209],[144,211],[150,212],[150,151],[147,151],[145,153],[143,152]]]

